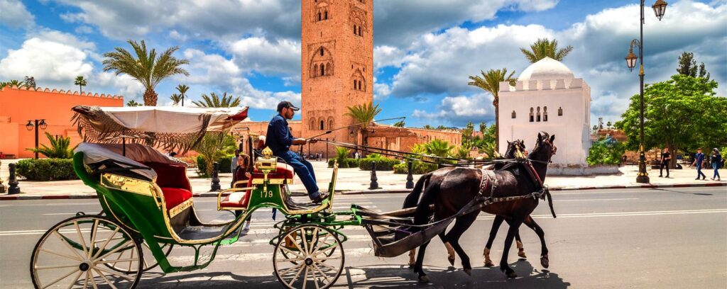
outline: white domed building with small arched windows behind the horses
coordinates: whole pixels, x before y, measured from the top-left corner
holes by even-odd
[[[555,135],[558,153],[548,174],[589,174],[590,86],[566,65],[545,57],[530,65],[515,86],[499,85],[499,150],[523,139],[532,150],[539,131]]]

